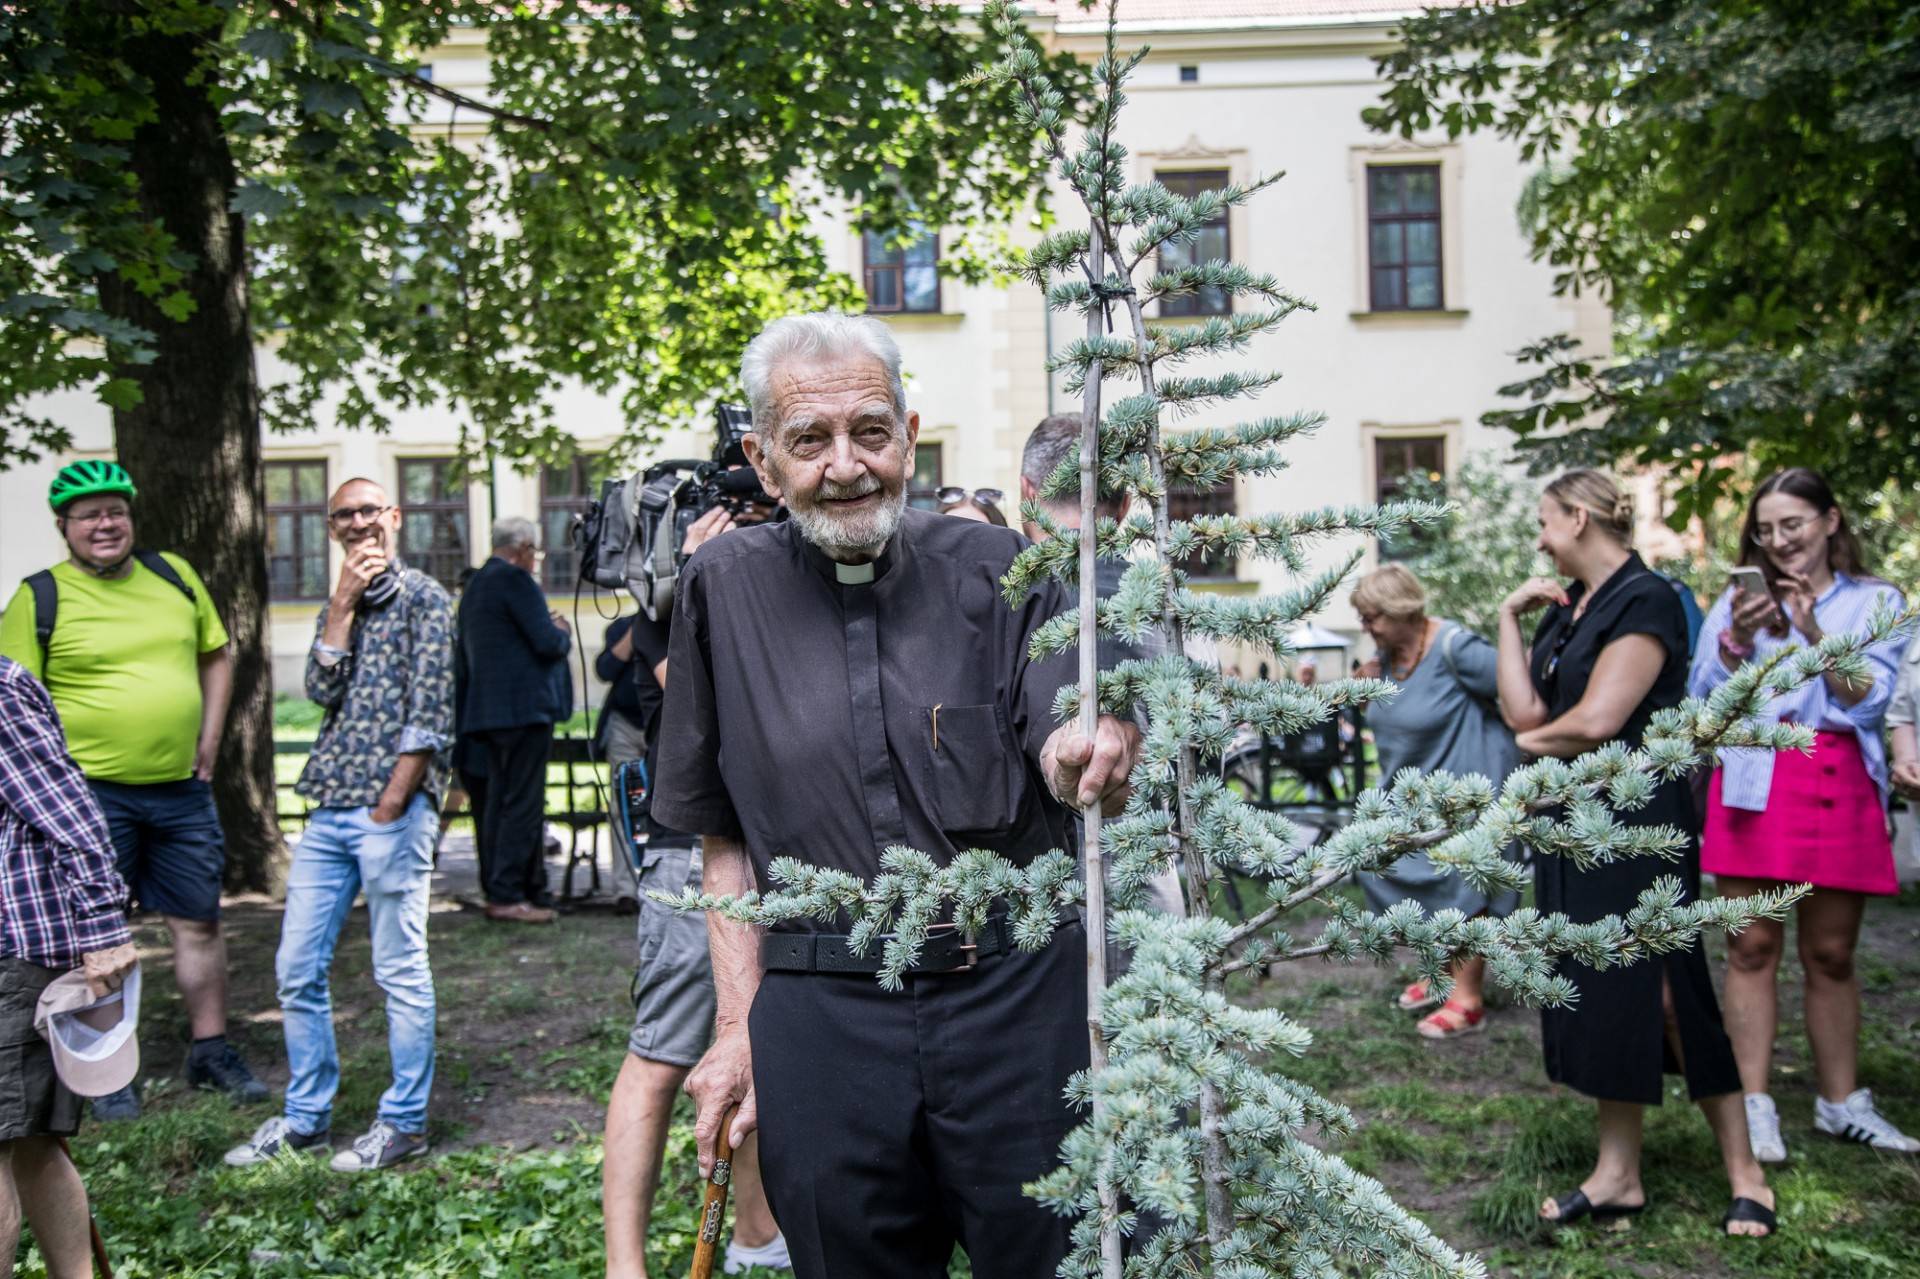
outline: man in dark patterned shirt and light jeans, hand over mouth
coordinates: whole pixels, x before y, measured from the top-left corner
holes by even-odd
[[[346,565],[307,655],[307,697],[326,720],[296,787],[315,812],[286,878],[276,958],[286,1108],[227,1152],[236,1168],[328,1145],[340,1056],[326,970],[359,891],[372,976],[386,991],[394,1083],[372,1127],[332,1168],[371,1171],[426,1150],[434,1085],[426,901],[453,741],[453,601],[399,563],[399,509],[372,480],[342,484],[326,522]]]

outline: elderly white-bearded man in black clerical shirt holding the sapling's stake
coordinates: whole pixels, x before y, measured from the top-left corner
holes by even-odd
[[[920,419],[877,321],[776,321],[741,367],[747,453],[785,524],[720,538],[676,603],[653,810],[705,835],[705,887],[743,893],[776,857],[874,876],[889,845],[935,858],[1066,847],[1071,803],[1125,801],[1133,724],[1056,728],[1073,657],[1033,663],[1068,607],[998,595],[1023,542],[906,511]],[[833,926],[758,935],[710,920],[714,1047],[689,1077],[701,1150],[739,1102],[799,1279],[1050,1275],[1068,1221],[1021,1195],[1058,1160],[1062,1087],[1087,1064],[1085,933],[1014,951],[929,943],[899,993]],[[751,1016],[749,1016],[751,1006]],[[749,1047],[751,1043],[751,1047]]]

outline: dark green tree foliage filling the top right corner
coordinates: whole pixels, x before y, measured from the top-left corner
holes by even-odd
[[[1615,359],[1544,336],[1486,417],[1538,467],[1678,465],[1676,519],[1732,453],[1855,497],[1920,480],[1920,10],[1478,0],[1402,33],[1367,121],[1513,138],[1534,255],[1617,313]]]

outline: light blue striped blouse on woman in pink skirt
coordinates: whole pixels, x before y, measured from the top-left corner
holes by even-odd
[[[1836,636],[1866,630],[1866,622],[1874,616],[1876,609],[1903,607],[1905,603],[1905,595],[1880,578],[1853,578],[1836,572],[1834,586],[1814,601],[1812,615],[1820,622],[1822,632]],[[1693,678],[1688,680],[1688,691],[1695,697],[1705,697],[1720,688],[1730,674],[1720,664],[1720,632],[1726,630],[1732,616],[1734,591],[1728,588],[1713,603],[1707,622],[1699,632],[1699,649],[1693,653]],[[1774,636],[1763,630],[1753,638],[1755,657],[1766,657],[1789,643],[1805,643],[1805,636],[1799,632]],[[1834,699],[1826,680],[1812,680],[1791,693],[1774,697],[1761,718],[1770,722],[1791,720],[1820,732],[1855,734],[1860,741],[1860,759],[1866,762],[1866,776],[1874,780],[1880,803],[1885,805],[1889,785],[1887,743],[1882,730],[1887,716],[1887,703],[1893,699],[1893,686],[1899,678],[1903,649],[1905,638],[1887,640],[1866,649],[1866,664],[1874,686],[1866,691],[1866,697],[1851,707],[1843,707]],[[1728,808],[1763,812],[1766,808],[1766,791],[1772,789],[1774,782],[1774,753],[1728,749],[1720,751],[1720,801]]]

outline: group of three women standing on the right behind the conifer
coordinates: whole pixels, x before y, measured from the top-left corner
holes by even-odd
[[[1371,711],[1382,782],[1409,764],[1500,782],[1523,759],[1572,759],[1609,741],[1636,745],[1657,711],[1711,693],[1743,663],[1788,643],[1860,632],[1876,609],[1905,601],[1868,572],[1845,511],[1812,471],[1782,471],[1753,494],[1740,547],[1740,565],[1751,572],[1718,595],[1697,643],[1680,593],[1634,553],[1632,532],[1632,503],[1609,476],[1572,471],[1548,484],[1540,551],[1555,572],[1521,584],[1501,603],[1496,643],[1428,618],[1419,580],[1400,565],[1361,578],[1354,609],[1380,653],[1363,674],[1400,686],[1398,697]],[[1523,618],[1542,609],[1528,634]],[[1766,718],[1812,728],[1811,753],[1722,751],[1701,785],[1665,782],[1651,803],[1617,814],[1622,824],[1684,832],[1678,864],[1534,860],[1536,906],[1572,922],[1624,914],[1655,878],[1670,874],[1678,874],[1684,901],[1699,897],[1703,872],[1728,897],[1811,883],[1793,929],[1814,1052],[1814,1127],[1908,1154],[1920,1152],[1920,1141],[1901,1133],[1859,1087],[1853,954],[1866,897],[1897,891],[1891,791],[1920,797],[1914,653],[1920,643],[1889,640],[1868,649],[1864,680],[1828,674],[1774,697]],[[1411,897],[1427,910],[1500,916],[1515,905],[1511,897],[1486,901],[1423,855],[1369,876],[1365,887],[1375,906]],[[1599,1156],[1574,1191],[1542,1204],[1544,1219],[1642,1210],[1644,1108],[1659,1104],[1663,1074],[1680,1074],[1720,1145],[1732,1189],[1728,1233],[1776,1227],[1763,1164],[1786,1160],[1770,1095],[1784,935],[1784,924],[1761,920],[1728,939],[1724,1016],[1697,945],[1605,972],[1563,964],[1578,1002],[1542,1014],[1546,1068],[1555,1083],[1596,1100]],[[1452,976],[1450,997],[1419,1024],[1430,1039],[1484,1026],[1478,964],[1455,964]],[[1427,983],[1413,983],[1398,1002],[1425,1010],[1438,1001]]]

